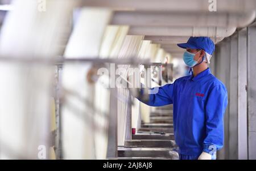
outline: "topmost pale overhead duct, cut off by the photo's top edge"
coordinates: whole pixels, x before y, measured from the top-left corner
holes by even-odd
[[[214,2],[205,0],[85,0],[84,6],[110,7],[113,10],[208,12]],[[255,0],[221,0],[216,2],[218,12],[247,12],[255,10]]]

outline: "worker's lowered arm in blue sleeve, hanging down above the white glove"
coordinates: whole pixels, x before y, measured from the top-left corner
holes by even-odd
[[[222,85],[213,87],[206,105],[206,138],[204,152],[212,154],[223,147],[224,113],[228,104],[226,88]]]

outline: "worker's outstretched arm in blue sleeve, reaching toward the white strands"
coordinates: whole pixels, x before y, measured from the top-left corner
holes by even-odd
[[[165,86],[162,86],[162,87],[151,88],[151,92],[153,93],[149,94],[148,101],[143,101],[139,98],[138,100],[150,106],[164,106],[164,105],[172,104],[174,84],[166,84]],[[145,93],[148,94],[148,92],[146,92],[144,88],[141,88],[141,95],[145,95]]]

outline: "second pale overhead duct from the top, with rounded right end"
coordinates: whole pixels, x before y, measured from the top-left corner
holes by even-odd
[[[111,24],[159,27],[246,27],[255,19],[255,11],[168,12],[115,11]]]

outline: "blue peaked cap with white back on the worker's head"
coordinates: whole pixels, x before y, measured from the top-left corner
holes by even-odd
[[[214,42],[210,37],[189,37],[188,42],[183,44],[177,44],[180,48],[186,49],[203,49],[206,52],[206,57],[208,63],[210,63],[210,58],[215,49]]]

